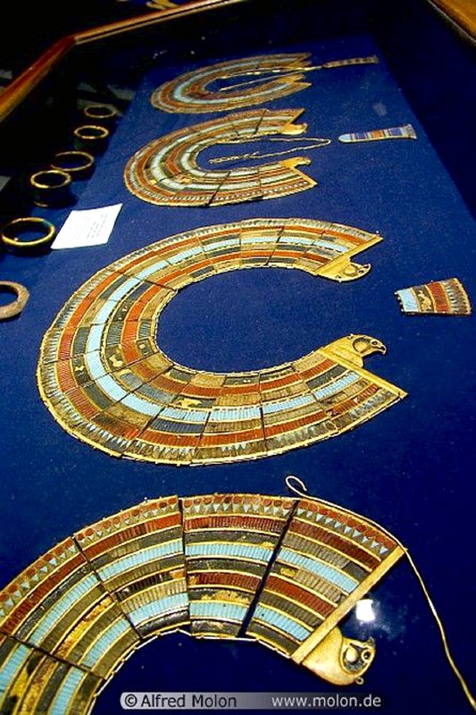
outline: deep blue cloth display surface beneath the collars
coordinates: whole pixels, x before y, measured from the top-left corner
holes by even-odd
[[[298,121],[308,122],[307,134],[333,139],[330,147],[308,155],[312,164],[304,170],[318,181],[316,188],[206,209],[151,206],[130,195],[122,180],[129,156],[166,132],[213,117],[163,114],[150,105],[154,87],[194,66],[162,65],[146,76],[76,206],[123,202],[109,243],[46,257],[4,257],[2,276],[27,285],[31,298],[20,319],[0,324],[0,585],[79,527],[146,497],[280,494],[284,476],[292,473],[305,480],[310,493],[371,517],[405,543],[447,626],[455,660],[470,678],[476,635],[473,318],[405,317],[394,291],[457,276],[476,299],[472,219],[371,38],[272,48],[296,50],[311,51],[314,63],[373,53],[381,60],[315,72],[311,88],[267,105],[305,107]],[[198,66],[224,59],[210,56]],[[407,122],[415,127],[416,141],[354,146],[337,141],[342,132]],[[66,213],[43,215],[61,224]],[[357,258],[371,262],[372,272],[348,285],[283,270],[229,273],[192,285],[166,308],[161,347],[188,366],[242,370],[278,364],[363,332],[388,346],[388,355],[367,360],[367,368],[408,391],[407,399],[337,439],[230,466],[172,468],[114,459],[63,432],[39,398],[35,370],[41,338],[72,291],[99,268],[154,240],[267,216],[348,223],[379,231],[384,240]],[[372,597],[379,618],[359,625],[351,616],[344,627],[347,635],[373,635],[377,641],[363,690],[380,694],[388,715],[469,711],[405,560]],[[105,688],[95,713],[120,712],[125,690],[336,688],[256,644],[169,635],[129,660]]]

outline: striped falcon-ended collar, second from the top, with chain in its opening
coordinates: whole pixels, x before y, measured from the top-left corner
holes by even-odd
[[[162,206],[223,206],[312,189],[315,181],[296,168],[309,164],[305,156],[224,170],[207,169],[198,162],[205,149],[217,144],[303,134],[306,125],[294,123],[303,112],[248,110],[172,131],[129,159],[126,186],[134,196]]]

